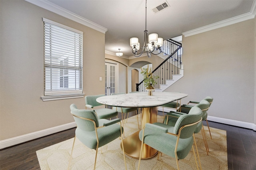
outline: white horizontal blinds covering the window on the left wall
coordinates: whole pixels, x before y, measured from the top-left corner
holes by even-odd
[[[83,32],[44,21],[44,95],[82,94]]]

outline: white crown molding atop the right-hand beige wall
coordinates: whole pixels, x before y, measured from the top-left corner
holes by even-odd
[[[212,23],[212,24],[206,25],[204,27],[192,29],[192,30],[186,31],[182,34],[184,35],[184,37],[189,37],[189,36],[196,35],[196,34],[199,34],[199,33],[203,33],[203,32],[206,32],[206,31],[211,31],[213,29],[226,27],[226,26],[232,25],[234,23],[250,20],[250,19],[255,18],[255,15],[256,15],[256,0],[253,1],[251,11],[246,13],[246,14],[242,14],[240,16],[229,18],[227,20]]]

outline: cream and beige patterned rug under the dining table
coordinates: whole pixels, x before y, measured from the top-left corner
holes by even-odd
[[[162,122],[162,116],[158,115],[158,122]],[[140,119],[139,119],[140,122]],[[209,155],[206,154],[202,134],[196,134],[196,143],[203,170],[227,170],[228,156],[227,156],[227,142],[226,131],[210,128],[212,139],[208,127],[206,130],[207,141],[209,145]],[[128,122],[124,123],[125,136],[131,135],[138,131],[138,123],[136,116],[128,118]],[[64,170],[68,168],[68,161],[72,149],[74,138],[57,143],[50,147],[36,151],[41,170]],[[120,139],[109,143],[102,147],[102,154],[100,149],[98,151],[96,169],[98,170],[123,170],[124,159],[123,152],[120,148]],[[95,150],[88,149],[78,139],[76,139],[75,147],[72,155],[72,162],[70,163],[71,170],[87,170],[94,167]],[[126,155],[126,164],[128,170],[136,170],[138,168],[138,159]],[[196,170],[196,163],[194,160],[193,151],[191,150],[188,156],[179,160],[179,166],[182,170]],[[140,170],[172,170],[177,169],[175,158],[162,154],[160,159],[157,156],[141,160]]]

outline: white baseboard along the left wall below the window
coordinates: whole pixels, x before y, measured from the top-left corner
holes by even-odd
[[[49,128],[49,129],[44,129],[42,131],[28,133],[26,135],[21,135],[21,136],[18,136],[18,137],[13,137],[13,138],[10,138],[10,139],[2,140],[2,141],[0,141],[0,149],[4,149],[6,147],[10,147],[10,146],[13,146],[13,145],[17,145],[17,144],[20,144],[20,143],[31,141],[33,139],[37,139],[37,138],[40,138],[40,137],[51,135],[53,133],[64,131],[66,129],[71,129],[73,127],[76,127],[76,122],[67,123],[67,124],[52,127],[52,128]]]

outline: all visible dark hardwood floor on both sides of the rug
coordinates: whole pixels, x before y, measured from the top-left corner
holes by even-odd
[[[129,117],[134,114],[130,113]],[[121,118],[121,113],[118,117]],[[210,121],[208,123],[210,127],[227,131],[229,170],[256,170],[255,131]],[[0,170],[40,170],[36,150],[65,141],[74,135],[75,128],[0,150]]]

